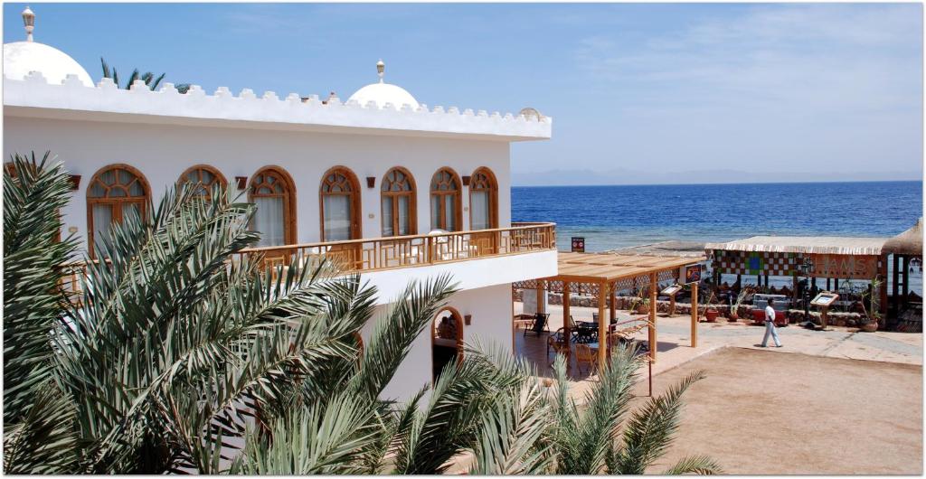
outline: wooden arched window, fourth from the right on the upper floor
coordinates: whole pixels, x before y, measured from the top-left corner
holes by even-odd
[[[360,183],[344,166],[335,166],[321,177],[321,240],[360,238]]]

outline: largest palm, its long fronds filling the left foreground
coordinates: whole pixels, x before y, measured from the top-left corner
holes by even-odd
[[[67,301],[58,266],[74,244],[53,232],[69,181],[45,160],[17,156],[4,176],[6,472],[225,471],[249,425],[333,395],[329,377],[353,371],[342,397],[378,405],[454,292],[446,276],[409,285],[357,364],[376,291],[326,265],[270,272],[237,258],[258,239],[255,206],[185,189],[97,241],[106,261],[87,264],[80,301]]]

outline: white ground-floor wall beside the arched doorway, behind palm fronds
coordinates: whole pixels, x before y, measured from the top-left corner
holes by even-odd
[[[471,342],[477,336],[483,344],[497,343],[511,350],[511,285],[459,291],[447,303],[462,314],[470,314],[471,323],[463,326],[463,340]],[[364,341],[369,340],[375,321],[381,321],[388,305],[377,307],[373,319],[364,327]],[[432,338],[430,328],[415,340],[406,361],[383,391],[383,399],[406,400],[432,381]]]

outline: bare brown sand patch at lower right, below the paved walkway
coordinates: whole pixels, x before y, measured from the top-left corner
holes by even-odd
[[[691,454],[732,474],[923,472],[922,366],[724,348],[657,375],[655,392],[698,369],[654,473]]]

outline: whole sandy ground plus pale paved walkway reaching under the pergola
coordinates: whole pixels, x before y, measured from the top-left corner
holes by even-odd
[[[577,321],[594,311],[571,308]],[[562,309],[549,312],[555,331]],[[619,312],[621,320],[630,317]],[[721,319],[697,328],[692,348],[690,316],[657,320],[655,392],[694,370],[707,379],[688,391],[676,442],[653,473],[691,454],[707,454],[732,474],[923,472],[921,334],[790,325],[779,328],[783,348],[763,349],[761,326]],[[645,331],[637,338],[645,340]],[[549,375],[545,338],[524,338],[519,330],[515,343],[540,375]],[[574,366],[571,377],[570,396],[582,402],[597,378]]]

